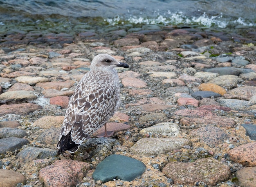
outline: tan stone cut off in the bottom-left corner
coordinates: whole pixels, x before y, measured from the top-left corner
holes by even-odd
[[[0,169],[0,186],[2,187],[14,187],[18,184],[26,184],[26,178],[19,172],[9,169]]]

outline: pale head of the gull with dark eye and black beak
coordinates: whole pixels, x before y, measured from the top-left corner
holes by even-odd
[[[118,62],[114,57],[108,54],[99,54],[93,58],[90,69],[91,71],[111,71],[115,67],[129,68],[129,65]]]

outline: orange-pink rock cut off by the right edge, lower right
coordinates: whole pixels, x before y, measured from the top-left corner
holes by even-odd
[[[256,166],[256,142],[240,145],[228,151],[229,157],[234,162],[244,166]]]

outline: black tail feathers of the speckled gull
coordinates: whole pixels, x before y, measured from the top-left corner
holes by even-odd
[[[69,151],[70,153],[74,153],[77,151],[80,144],[76,144],[71,139],[71,131],[69,134],[62,135],[60,141],[58,142],[57,147],[59,148],[58,154],[64,153],[65,151]]]

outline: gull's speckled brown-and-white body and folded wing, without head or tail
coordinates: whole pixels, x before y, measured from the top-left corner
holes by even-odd
[[[79,82],[70,98],[60,138],[71,131],[72,141],[81,144],[112,117],[119,100],[119,83],[113,82],[111,74],[104,75],[94,81],[85,76]]]

